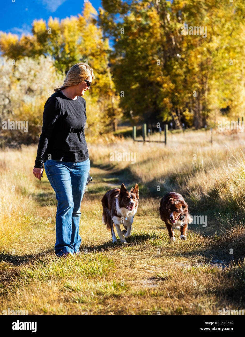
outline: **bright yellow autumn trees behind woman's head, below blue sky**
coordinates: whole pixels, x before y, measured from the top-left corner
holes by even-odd
[[[101,29],[96,25],[95,14],[97,12],[91,3],[85,2],[83,15],[78,14],[77,17],[60,21],[50,17],[47,24],[42,19],[35,20],[32,35],[23,35],[18,39],[16,35],[2,33],[0,49],[3,55],[13,60],[25,56],[33,59],[38,59],[40,55],[51,56],[57,71],[63,77],[74,64],[89,64],[95,74],[89,95],[104,103],[101,119],[115,130],[121,110],[118,108],[119,99],[115,97],[108,65],[108,40],[103,40]]]

